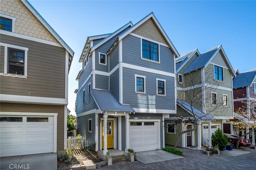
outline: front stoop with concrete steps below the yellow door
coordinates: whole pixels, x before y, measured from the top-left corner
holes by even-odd
[[[134,155],[128,154],[123,150],[111,149],[109,150],[109,156],[103,155],[102,150],[99,150],[97,154],[100,158],[102,158],[102,160],[107,161],[108,165],[127,162],[127,161],[134,162]]]

